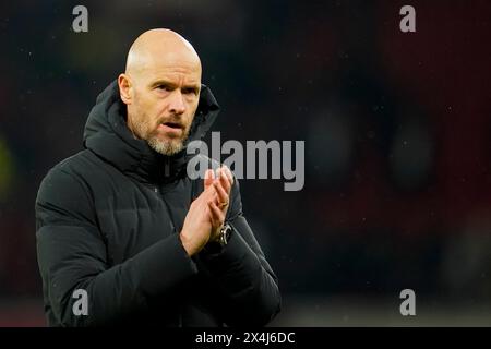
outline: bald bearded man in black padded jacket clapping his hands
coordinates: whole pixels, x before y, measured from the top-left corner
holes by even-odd
[[[97,97],[84,149],[43,180],[36,239],[50,326],[262,326],[278,313],[238,181],[209,158],[201,179],[187,172],[188,144],[219,111],[201,74],[182,36],[143,33]]]

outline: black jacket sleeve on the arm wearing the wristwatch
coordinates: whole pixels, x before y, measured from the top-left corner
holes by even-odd
[[[240,189],[235,180],[227,221],[230,240],[217,253],[200,255],[219,294],[215,303],[229,326],[264,326],[280,310],[278,279],[266,261],[242,214]]]

